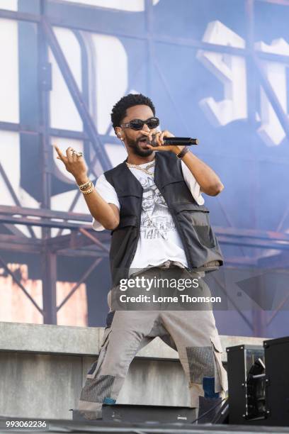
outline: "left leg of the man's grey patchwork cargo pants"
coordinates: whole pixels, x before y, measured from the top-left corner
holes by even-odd
[[[105,330],[98,360],[86,376],[79,410],[98,411],[104,399],[118,398],[132,359],[153,339],[149,332],[156,317],[157,311],[115,312],[111,328]]]

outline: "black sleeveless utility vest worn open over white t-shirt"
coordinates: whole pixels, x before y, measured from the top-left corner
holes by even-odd
[[[118,194],[120,224],[111,232],[111,275],[113,285],[128,278],[137,241],[140,237],[142,213],[142,186],[125,164],[104,173]],[[223,263],[222,252],[209,221],[209,211],[198,205],[188,189],[181,160],[172,152],[156,152],[154,182],[169,208],[176,230],[183,242],[188,268],[194,271],[212,271]]]

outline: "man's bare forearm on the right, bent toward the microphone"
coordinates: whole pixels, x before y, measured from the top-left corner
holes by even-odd
[[[182,160],[188,169],[190,169],[196,182],[200,185],[201,191],[209,196],[217,196],[222,191],[224,186],[220,178],[196,155],[193,155],[192,152],[187,152]]]

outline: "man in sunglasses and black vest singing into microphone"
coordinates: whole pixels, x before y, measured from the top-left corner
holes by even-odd
[[[201,193],[216,196],[222,182],[186,146],[164,145],[174,135],[157,130],[159,119],[146,96],[124,96],[111,121],[128,158],[102,174],[95,187],[81,152],[68,148],[65,156],[55,149],[84,194],[94,229],[112,231],[113,288],[139,274],[177,275],[198,277],[200,290],[209,294],[202,277],[222,265],[222,254]],[[148,144],[153,139],[157,147]],[[115,404],[133,357],[156,336],[179,352],[192,407],[199,407],[200,396],[200,402],[225,396],[227,374],[212,308],[118,310],[111,294],[101,351],[81,391],[79,410],[86,417],[99,418],[103,403]]]

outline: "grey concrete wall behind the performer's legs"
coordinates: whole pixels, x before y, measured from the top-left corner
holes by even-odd
[[[0,323],[0,416],[72,418],[81,387],[96,360],[103,328]],[[222,336],[222,345],[261,338]],[[226,352],[223,361],[226,362]],[[118,403],[188,406],[178,353],[159,338],[130,366]]]

